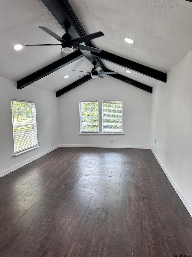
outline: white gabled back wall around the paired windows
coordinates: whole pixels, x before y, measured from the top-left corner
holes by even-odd
[[[151,97],[151,93],[107,75],[85,82],[59,97],[60,145],[150,148]],[[125,135],[79,135],[79,101],[99,101],[102,132],[102,100],[120,99],[123,100]]]

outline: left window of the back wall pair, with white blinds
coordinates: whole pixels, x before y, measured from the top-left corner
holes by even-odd
[[[98,101],[79,102],[80,133],[99,132]]]

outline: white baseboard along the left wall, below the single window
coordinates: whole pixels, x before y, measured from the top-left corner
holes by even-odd
[[[59,145],[54,146],[54,147],[50,148],[49,150],[46,150],[45,152],[42,152],[42,153],[40,153],[40,154],[38,154],[38,155],[36,155],[36,156],[30,158],[30,159],[27,159],[26,161],[23,161],[23,162],[21,162],[21,163],[15,165],[15,166],[13,166],[13,167],[11,167],[11,168],[5,170],[5,171],[1,171],[1,172],[0,172],[0,177],[3,177],[3,176],[9,174],[9,173],[12,172],[12,171],[15,171],[16,169],[21,168],[22,166],[28,164],[29,162],[35,161],[36,159],[38,159],[38,158],[40,158],[40,157],[46,155],[46,154],[49,153],[49,152],[52,152],[53,150],[57,149],[58,147],[59,147]]]

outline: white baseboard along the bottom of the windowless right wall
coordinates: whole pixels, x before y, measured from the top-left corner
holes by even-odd
[[[151,147],[151,150],[152,150],[152,153],[154,154],[155,158],[157,159],[159,165],[161,166],[161,168],[165,172],[165,174],[166,174],[167,178],[169,179],[170,183],[172,184],[173,188],[175,189],[176,193],[178,194],[179,198],[182,200],[183,204],[187,208],[187,211],[190,213],[190,215],[192,217],[192,206],[187,201],[187,199],[185,198],[185,196],[183,195],[183,193],[181,192],[179,187],[176,185],[175,181],[170,176],[169,172],[167,171],[167,169],[165,168],[165,166],[163,165],[163,163],[161,162],[161,160],[159,159],[159,157],[157,156],[156,152],[153,150],[152,147]]]

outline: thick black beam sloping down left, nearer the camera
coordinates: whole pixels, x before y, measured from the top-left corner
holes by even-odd
[[[58,61],[53,62],[52,64],[47,65],[46,67],[35,71],[34,73],[30,74],[29,76],[22,78],[21,80],[17,81],[17,89],[22,89],[25,86],[28,86],[35,81],[51,74],[54,71],[57,71],[64,66],[72,63],[73,61],[78,60],[79,58],[83,57],[84,55],[80,50],[76,50],[75,52],[59,59]]]

